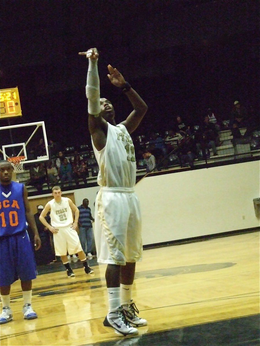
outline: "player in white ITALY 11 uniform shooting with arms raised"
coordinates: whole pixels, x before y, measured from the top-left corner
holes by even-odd
[[[142,239],[139,201],[133,189],[136,160],[130,134],[140,124],[147,105],[118,70],[109,65],[108,78],[122,89],[133,106],[127,119],[116,125],[111,102],[100,98],[97,49],[79,54],[86,55],[89,60],[88,125],[101,186],[95,202],[94,232],[98,262],[107,263],[109,312],[103,324],[122,335],[137,334],[135,327],[145,326],[147,321],[137,316],[139,311],[132,300],[136,262],[142,256]]]

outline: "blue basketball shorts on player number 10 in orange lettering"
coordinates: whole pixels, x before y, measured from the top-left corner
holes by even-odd
[[[0,238],[0,286],[9,286],[16,280],[32,280],[37,270],[27,230]]]

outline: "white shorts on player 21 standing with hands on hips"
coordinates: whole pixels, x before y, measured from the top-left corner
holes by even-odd
[[[67,255],[67,250],[69,255],[82,251],[78,233],[75,229],[71,228],[71,225],[62,227],[59,226],[57,228],[59,228],[58,233],[53,234],[56,256]]]

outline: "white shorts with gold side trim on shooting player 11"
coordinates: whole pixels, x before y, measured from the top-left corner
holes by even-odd
[[[101,187],[94,235],[98,263],[125,265],[141,260],[141,212],[134,189]]]

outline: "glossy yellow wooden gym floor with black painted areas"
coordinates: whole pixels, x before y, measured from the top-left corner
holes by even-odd
[[[259,232],[144,251],[133,298],[148,326],[121,337],[103,326],[105,265],[79,262],[68,278],[61,262],[38,267],[35,320],[24,320],[20,282],[11,287],[14,320],[1,325],[10,345],[259,345]]]

